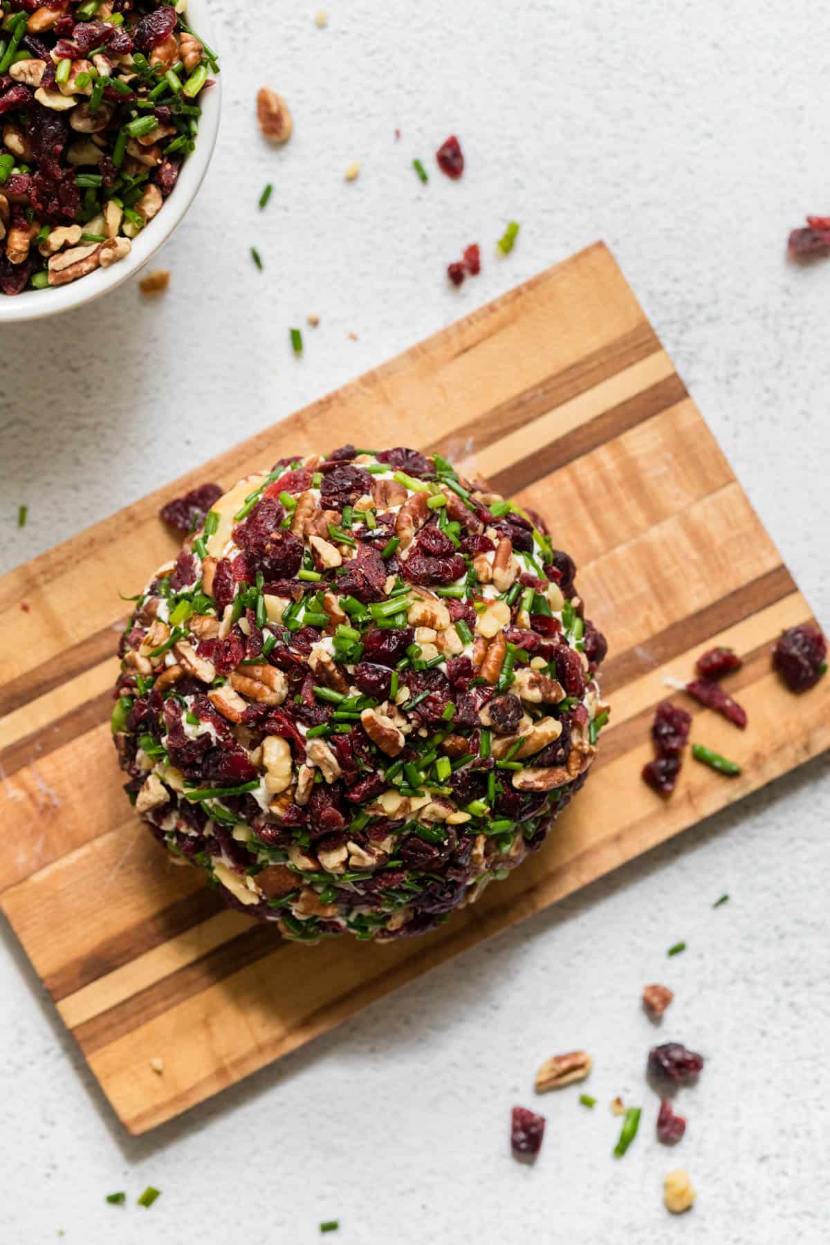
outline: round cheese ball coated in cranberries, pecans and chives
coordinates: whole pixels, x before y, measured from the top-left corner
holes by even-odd
[[[438,454],[282,458],[163,518],[112,731],[156,839],[304,942],[423,934],[541,847],[609,720],[539,515]]]

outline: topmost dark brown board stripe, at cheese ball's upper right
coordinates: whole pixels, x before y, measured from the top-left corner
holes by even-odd
[[[473,342],[468,349],[474,350],[477,345],[478,342]],[[571,398],[586,393],[658,350],[662,350],[660,340],[651,325],[643,320],[616,341],[601,346],[564,371],[551,372],[533,388],[485,411],[469,423],[454,428],[447,437],[441,437],[423,448],[427,453],[436,451],[441,453],[442,449],[457,446],[459,439],[472,437],[475,448],[484,449],[485,446],[492,446],[531,420],[564,406]]]

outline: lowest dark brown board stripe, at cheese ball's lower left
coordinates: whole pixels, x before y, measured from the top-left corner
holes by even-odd
[[[96,1051],[117,1042],[132,1033],[134,1028],[148,1023],[170,1007],[175,1007],[194,995],[224,981],[234,972],[246,969],[250,964],[280,951],[289,944],[282,941],[276,925],[264,923],[251,924],[238,937],[215,947],[193,964],[178,969],[169,977],[141,990],[137,995],[124,998],[107,1011],[72,1030],[83,1053],[88,1057]]]

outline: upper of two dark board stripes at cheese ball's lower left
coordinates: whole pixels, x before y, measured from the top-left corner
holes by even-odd
[[[153,850],[148,835],[148,850]],[[161,848],[158,850],[162,850]],[[169,942],[170,939],[187,934],[188,930],[224,911],[225,905],[219,893],[207,884],[205,875],[193,874],[197,889],[175,904],[162,908],[137,925],[119,930],[112,937],[103,939],[86,955],[80,955],[61,965],[57,972],[44,979],[55,1002],[73,995],[77,990],[106,977],[108,972],[122,969],[146,951]]]

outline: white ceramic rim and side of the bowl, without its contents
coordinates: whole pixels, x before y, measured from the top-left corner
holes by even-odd
[[[198,35],[219,52],[213,35],[213,27],[208,16],[207,0],[188,0],[187,22]],[[221,57],[220,57],[221,63]],[[70,285],[60,285],[55,289],[31,290],[9,298],[0,294],[0,326],[4,324],[19,324],[25,320],[42,320],[60,311],[68,311],[80,308],[92,299],[114,290],[117,285],[143,268],[152,259],[158,248],[167,242],[175,227],[184,218],[188,208],[193,203],[208,164],[217,144],[219,131],[219,113],[221,111],[221,75],[217,75],[215,85],[202,96],[202,117],[199,118],[199,133],[195,139],[195,151],[192,152],[182,166],[179,179],[170,197],[164,200],[164,205],[154,220],[142,229],[137,238],[132,240],[132,250],[126,259],[118,260],[110,268],[98,268],[88,276],[81,276]]]

